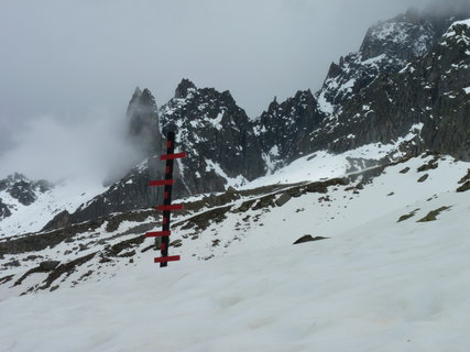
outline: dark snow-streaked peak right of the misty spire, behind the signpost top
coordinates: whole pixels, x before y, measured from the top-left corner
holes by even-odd
[[[225,190],[227,178],[264,175],[260,143],[229,91],[183,79],[160,112],[163,134],[175,131],[177,146],[188,153],[178,164],[190,193]]]

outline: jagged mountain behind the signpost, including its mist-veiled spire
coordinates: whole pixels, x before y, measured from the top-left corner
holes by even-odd
[[[175,97],[157,109],[147,89],[136,89],[129,103],[128,121],[130,138],[135,143],[141,141],[139,146],[147,157],[75,212],[57,215],[44,230],[162,202],[162,194],[151,189],[149,180],[164,178],[160,154],[168,130],[177,132],[176,150],[188,154],[175,164],[176,198],[223,191],[265,174],[260,142],[247,113],[229,91],[197,88],[183,79]]]

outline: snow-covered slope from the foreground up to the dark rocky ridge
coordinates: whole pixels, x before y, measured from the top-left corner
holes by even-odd
[[[417,170],[431,160],[229,212],[198,240],[179,229],[165,270],[149,251],[112,278],[7,298],[0,350],[469,351],[470,197],[456,188],[470,165]],[[292,245],[306,233],[327,239]]]

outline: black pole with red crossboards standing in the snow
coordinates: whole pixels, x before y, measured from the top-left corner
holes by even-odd
[[[165,186],[163,191],[163,205],[159,206],[156,209],[163,211],[162,220],[162,231],[147,232],[145,237],[147,238],[162,238],[160,251],[162,253],[161,257],[155,257],[154,263],[160,263],[160,266],[167,266],[168,262],[179,261],[179,255],[168,256],[168,244],[170,235],[170,221],[172,210],[182,210],[183,205],[172,205],[172,189],[174,185],[173,179],[173,165],[175,158],[182,158],[186,156],[186,153],[174,153],[175,152],[175,132],[168,132],[166,135],[166,154],[162,155],[160,158],[166,161],[165,165],[165,179],[161,180],[151,180],[149,186]]]

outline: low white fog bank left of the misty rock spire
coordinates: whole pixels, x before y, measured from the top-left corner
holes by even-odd
[[[106,109],[64,119],[43,114],[12,129],[9,148],[0,154],[0,178],[14,172],[53,183],[67,178],[94,182],[123,176],[143,155],[127,139],[123,113]]]

